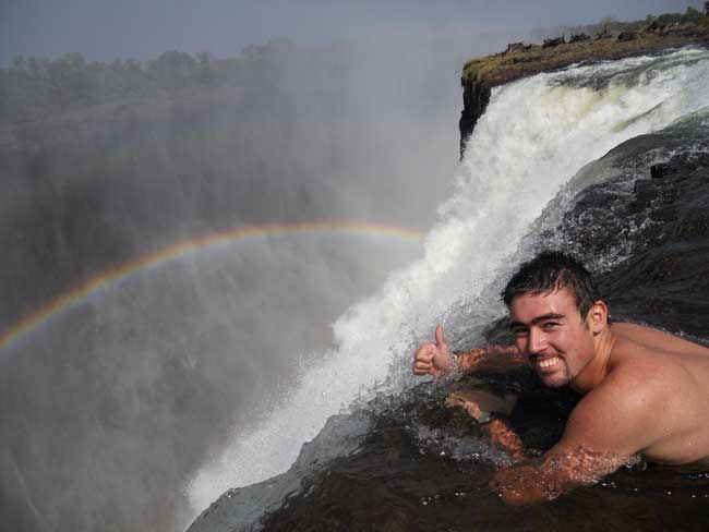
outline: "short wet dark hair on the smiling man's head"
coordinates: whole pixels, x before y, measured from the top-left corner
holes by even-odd
[[[552,292],[561,288],[572,292],[582,319],[600,299],[591,274],[586,267],[573,256],[560,251],[544,251],[524,263],[500,293],[500,299],[509,309],[518,295]]]

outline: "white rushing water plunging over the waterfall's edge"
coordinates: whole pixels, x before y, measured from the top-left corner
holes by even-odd
[[[592,80],[610,81],[584,86]],[[231,445],[189,483],[195,515],[230,487],[287,470],[328,416],[377,383],[389,377],[386,386],[396,391],[414,382],[411,348],[510,269],[519,239],[558,189],[621,142],[709,106],[708,86],[709,53],[688,49],[494,89],[450,198],[431,205],[438,222],[425,239],[424,257],[335,323],[337,349],[304,370],[265,420],[235,428]],[[484,303],[482,314],[502,312],[495,301]],[[449,325],[455,340],[460,325]]]

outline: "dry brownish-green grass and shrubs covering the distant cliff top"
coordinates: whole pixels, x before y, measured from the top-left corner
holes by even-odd
[[[690,43],[709,43],[709,2],[705,12],[687,8],[684,14],[665,13],[645,21],[605,21],[593,36],[572,34],[568,39],[545,39],[543,45],[514,43],[507,50],[470,60],[462,70],[462,84],[493,87],[541,71],[551,71],[593,59],[616,59],[646,50]],[[568,40],[568,41],[567,41]]]

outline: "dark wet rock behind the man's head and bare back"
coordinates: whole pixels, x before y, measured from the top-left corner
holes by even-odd
[[[651,153],[682,134],[670,128],[621,148]],[[614,318],[709,339],[709,146],[680,152],[635,180],[627,171],[579,192],[555,241],[597,268],[614,264],[598,276]]]

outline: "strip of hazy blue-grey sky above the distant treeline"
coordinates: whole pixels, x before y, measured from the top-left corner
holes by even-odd
[[[382,32],[466,33],[641,19],[700,0],[0,0],[0,62],[17,55],[149,59],[163,51],[238,55],[288,37],[312,45]]]

